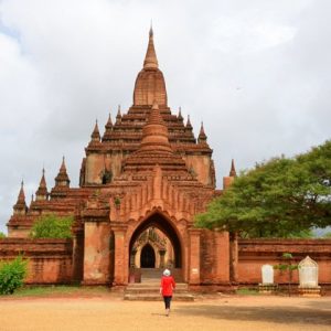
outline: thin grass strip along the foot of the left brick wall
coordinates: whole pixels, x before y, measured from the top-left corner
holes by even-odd
[[[26,286],[18,289],[12,297],[49,297],[49,296],[99,296],[109,292],[107,287],[79,286]]]

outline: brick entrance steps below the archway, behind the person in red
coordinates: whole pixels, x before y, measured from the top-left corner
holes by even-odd
[[[177,280],[173,300],[175,301],[194,301],[194,296],[189,291],[188,284],[182,282],[181,277],[175,276]],[[161,269],[141,269],[141,282],[130,282],[124,293],[125,300],[132,301],[161,301],[160,278]]]

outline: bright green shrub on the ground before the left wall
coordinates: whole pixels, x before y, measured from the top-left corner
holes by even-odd
[[[26,276],[28,261],[18,256],[11,261],[0,263],[0,295],[12,295],[23,285]]]

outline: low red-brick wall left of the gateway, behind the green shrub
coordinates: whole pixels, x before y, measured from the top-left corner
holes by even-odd
[[[67,284],[73,278],[72,239],[0,239],[0,259],[22,254],[28,259],[25,284]]]

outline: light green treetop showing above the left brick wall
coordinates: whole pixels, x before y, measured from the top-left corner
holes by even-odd
[[[32,226],[32,238],[71,238],[73,216],[56,216],[46,214],[41,216]]]

